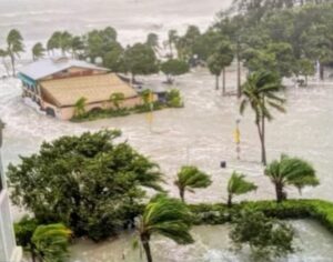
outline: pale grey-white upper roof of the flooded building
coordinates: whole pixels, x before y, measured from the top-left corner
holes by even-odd
[[[31,78],[32,80],[39,80],[73,67],[91,69],[91,70],[109,71],[105,68],[100,68],[92,63],[88,63],[85,61],[80,61],[80,60],[74,60],[69,58],[42,59],[21,68],[19,71],[20,73]]]

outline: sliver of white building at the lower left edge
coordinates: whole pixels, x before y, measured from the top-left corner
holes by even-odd
[[[0,120],[0,150],[2,147],[3,123]],[[1,152],[0,152],[1,153]],[[20,262],[22,249],[17,246],[13,223],[10,213],[8,190],[0,154],[0,262]]]

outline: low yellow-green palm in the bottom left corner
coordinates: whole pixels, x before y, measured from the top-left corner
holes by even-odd
[[[71,231],[63,224],[39,225],[31,242],[42,262],[63,262],[68,259]]]

